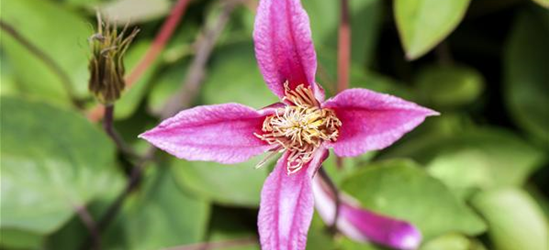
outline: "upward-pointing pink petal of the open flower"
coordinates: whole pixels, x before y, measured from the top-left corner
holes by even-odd
[[[315,83],[316,53],[309,17],[299,0],[260,0],[254,27],[255,55],[269,88],[284,97],[284,82],[294,89],[311,86],[316,98],[324,90]]]

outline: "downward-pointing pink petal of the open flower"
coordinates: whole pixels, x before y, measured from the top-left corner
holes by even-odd
[[[303,250],[313,217],[312,176],[326,159],[318,149],[308,166],[287,173],[288,152],[278,160],[261,191],[258,228],[262,250]]]

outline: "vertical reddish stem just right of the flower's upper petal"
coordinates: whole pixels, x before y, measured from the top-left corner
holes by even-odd
[[[351,56],[351,28],[349,25],[349,2],[341,0],[341,16],[337,53],[337,92],[349,88],[349,63]]]

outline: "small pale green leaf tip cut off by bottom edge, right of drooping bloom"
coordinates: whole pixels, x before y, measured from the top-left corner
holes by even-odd
[[[482,243],[461,234],[450,233],[426,242],[420,250],[486,250]]]

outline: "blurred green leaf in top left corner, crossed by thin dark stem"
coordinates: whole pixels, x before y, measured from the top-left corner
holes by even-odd
[[[90,23],[53,1],[5,0],[2,8],[9,10],[2,12],[2,21],[55,61],[69,77],[74,94],[86,97]],[[22,89],[37,98],[68,104],[61,78],[11,35],[2,33],[3,50]]]

